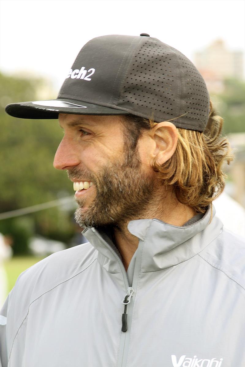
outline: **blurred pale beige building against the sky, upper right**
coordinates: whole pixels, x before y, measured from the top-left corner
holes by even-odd
[[[214,41],[205,50],[195,52],[194,64],[211,93],[222,93],[223,81],[227,77],[244,80],[244,53],[228,50],[221,39]]]

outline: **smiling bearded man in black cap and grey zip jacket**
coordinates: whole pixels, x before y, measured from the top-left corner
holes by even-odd
[[[54,101],[86,244],[19,276],[2,310],[3,366],[244,364],[243,246],[212,200],[232,159],[205,82],[158,39],[102,36]]]

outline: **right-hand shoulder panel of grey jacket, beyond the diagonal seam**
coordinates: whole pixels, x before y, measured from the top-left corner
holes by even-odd
[[[241,236],[223,227],[198,255],[245,289],[245,243]]]

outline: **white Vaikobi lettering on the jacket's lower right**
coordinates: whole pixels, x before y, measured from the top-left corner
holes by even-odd
[[[212,359],[198,359],[197,356],[193,358],[185,358],[186,355],[181,356],[177,361],[177,356],[172,354],[172,364],[173,367],[220,367],[223,361],[223,358],[217,360],[216,358]]]

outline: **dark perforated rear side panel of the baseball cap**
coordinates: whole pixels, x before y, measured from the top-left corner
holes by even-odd
[[[197,68],[181,52],[144,37],[122,81],[117,103],[137,116],[153,117],[203,131],[209,116],[209,94]]]

